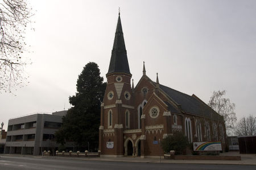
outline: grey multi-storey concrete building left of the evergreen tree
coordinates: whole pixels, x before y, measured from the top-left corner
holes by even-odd
[[[5,154],[40,155],[44,150],[54,153],[58,146],[54,134],[65,114],[67,110],[9,119]]]

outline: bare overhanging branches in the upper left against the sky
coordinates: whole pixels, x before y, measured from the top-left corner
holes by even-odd
[[[27,76],[24,34],[33,15],[26,0],[0,0],[0,92],[23,86]]]

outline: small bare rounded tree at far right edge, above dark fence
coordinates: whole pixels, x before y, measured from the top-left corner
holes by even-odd
[[[256,118],[253,115],[249,115],[247,118],[241,118],[235,129],[236,135],[238,136],[256,135]]]

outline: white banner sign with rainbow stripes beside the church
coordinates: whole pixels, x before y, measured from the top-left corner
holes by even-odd
[[[193,142],[194,151],[221,151],[221,142]]]

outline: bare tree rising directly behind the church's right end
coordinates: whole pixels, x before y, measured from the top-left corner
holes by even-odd
[[[224,98],[226,91],[213,92],[210,97],[208,105],[212,107],[218,114],[220,114],[226,126],[227,135],[232,135],[234,131],[234,124],[237,121],[236,113],[234,112],[236,105],[230,101],[229,98]]]

